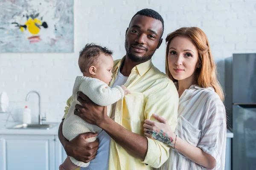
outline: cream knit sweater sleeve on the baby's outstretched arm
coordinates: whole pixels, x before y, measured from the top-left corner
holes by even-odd
[[[124,97],[124,91],[120,86],[110,88],[99,79],[90,79],[82,82],[79,91],[100,106],[111,105]]]

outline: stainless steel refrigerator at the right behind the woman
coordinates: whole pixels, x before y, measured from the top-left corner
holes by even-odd
[[[256,54],[233,54],[227,61],[225,105],[234,133],[232,169],[256,170]]]

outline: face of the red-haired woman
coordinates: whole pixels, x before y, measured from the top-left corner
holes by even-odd
[[[172,77],[177,80],[195,80],[198,50],[189,37],[174,37],[169,45],[168,64]]]

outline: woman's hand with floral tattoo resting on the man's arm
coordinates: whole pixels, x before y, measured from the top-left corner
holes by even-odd
[[[162,116],[155,114],[153,114],[153,116],[159,122],[146,119],[143,125],[143,127],[145,127],[144,136],[151,139],[156,139],[173,147],[175,144],[176,135],[173,133],[171,127],[168,124],[168,121]]]

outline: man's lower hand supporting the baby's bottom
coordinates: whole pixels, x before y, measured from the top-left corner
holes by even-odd
[[[95,142],[86,141],[86,139],[95,136],[97,136],[97,133],[82,133],[76,136],[70,142],[67,142],[64,145],[67,155],[85,163],[95,159],[97,150],[99,148],[99,140],[97,139]]]

